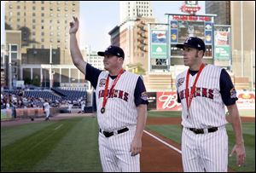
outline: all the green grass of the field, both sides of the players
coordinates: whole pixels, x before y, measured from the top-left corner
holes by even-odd
[[[180,112],[148,112],[148,117],[179,117]],[[255,170],[255,124],[242,124],[247,160],[237,171]],[[147,128],[180,143],[180,125],[147,125]],[[230,148],[235,143],[230,125]],[[96,118],[80,117],[1,127],[1,171],[85,172],[102,171],[98,153]],[[171,165],[170,165],[171,166]]]

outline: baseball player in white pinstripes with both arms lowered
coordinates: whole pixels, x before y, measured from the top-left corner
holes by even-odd
[[[178,102],[182,104],[183,170],[227,171],[228,136],[225,130],[224,106],[228,108],[236,144],[237,164],[244,163],[246,153],[241,119],[236,107],[236,90],[229,74],[222,68],[202,61],[205,43],[199,37],[188,37],[183,44],[183,61],[189,69],[177,75]]]

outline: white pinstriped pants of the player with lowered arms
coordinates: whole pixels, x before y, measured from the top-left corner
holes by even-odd
[[[228,136],[224,127],[207,134],[195,134],[183,127],[182,159],[184,172],[226,172]]]

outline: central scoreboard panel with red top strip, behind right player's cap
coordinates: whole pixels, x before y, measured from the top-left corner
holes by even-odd
[[[187,37],[200,37],[206,44],[205,56],[212,57],[213,16],[170,14],[168,19],[171,57],[182,57],[181,49],[176,49],[176,44],[184,43]]]

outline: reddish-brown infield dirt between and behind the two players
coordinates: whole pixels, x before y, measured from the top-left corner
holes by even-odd
[[[255,118],[241,117],[241,122],[255,122]],[[148,118],[147,124],[180,124],[181,118]],[[173,147],[181,150],[181,146],[176,142],[160,136],[154,131],[148,130],[154,136],[157,136]],[[143,151],[141,153],[141,171],[143,172],[182,172],[181,154],[170,147],[156,141],[148,134],[143,135]],[[229,172],[234,172],[229,169]]]

